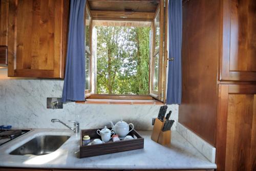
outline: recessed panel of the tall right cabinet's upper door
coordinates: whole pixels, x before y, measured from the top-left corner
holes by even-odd
[[[230,70],[256,71],[256,2],[232,0]]]

